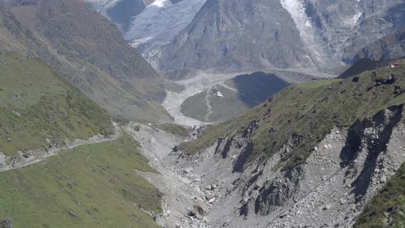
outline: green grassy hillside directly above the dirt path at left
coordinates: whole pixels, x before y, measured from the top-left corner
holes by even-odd
[[[0,56],[0,152],[14,156],[97,133],[113,133],[108,113],[65,78],[35,58]]]

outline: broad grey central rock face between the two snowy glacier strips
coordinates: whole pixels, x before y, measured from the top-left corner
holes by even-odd
[[[292,67],[301,62],[312,65],[279,1],[208,0],[162,50],[159,68]]]

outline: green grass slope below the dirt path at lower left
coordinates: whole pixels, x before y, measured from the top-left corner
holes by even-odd
[[[161,193],[135,171],[154,172],[138,147],[124,133],[0,173],[0,218],[14,227],[158,227],[143,209],[161,212]]]

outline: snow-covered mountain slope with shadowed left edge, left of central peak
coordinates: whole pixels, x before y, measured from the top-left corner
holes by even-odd
[[[185,29],[207,0],[85,1],[116,23],[132,47],[150,56]]]

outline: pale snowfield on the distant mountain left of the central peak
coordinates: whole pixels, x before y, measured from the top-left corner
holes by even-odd
[[[156,0],[134,17],[124,35],[132,47],[143,43],[156,46],[170,43],[194,18],[207,0],[185,0],[173,4],[170,0]]]

